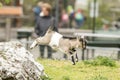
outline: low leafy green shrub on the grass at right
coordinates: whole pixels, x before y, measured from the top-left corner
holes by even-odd
[[[109,67],[116,66],[115,60],[108,57],[102,57],[102,56],[98,56],[93,60],[86,60],[84,61],[84,64],[90,64],[92,66],[109,66]]]

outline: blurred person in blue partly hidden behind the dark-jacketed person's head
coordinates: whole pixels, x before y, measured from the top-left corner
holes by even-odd
[[[35,23],[37,22],[40,12],[42,11],[42,5],[43,5],[43,2],[38,2],[37,6],[33,8]]]

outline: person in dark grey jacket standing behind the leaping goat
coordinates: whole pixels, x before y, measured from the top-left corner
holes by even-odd
[[[58,28],[55,25],[55,19],[51,16],[51,5],[48,3],[44,3],[42,5],[42,11],[39,14],[39,17],[37,19],[36,27],[35,27],[35,33],[38,36],[44,36],[46,31],[50,26],[53,27],[54,31],[58,32]],[[48,52],[48,58],[52,57],[52,49],[49,46],[45,45],[40,45],[40,57],[44,58],[44,49],[47,47],[47,52]]]

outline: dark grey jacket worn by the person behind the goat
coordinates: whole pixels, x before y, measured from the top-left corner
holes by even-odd
[[[58,32],[58,28],[55,25],[55,19],[51,16],[39,17],[35,27],[35,33],[38,36],[44,36],[48,28],[52,26],[53,31]]]

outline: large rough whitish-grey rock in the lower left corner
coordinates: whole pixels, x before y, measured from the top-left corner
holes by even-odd
[[[0,43],[0,80],[41,80],[44,67],[20,42]]]

